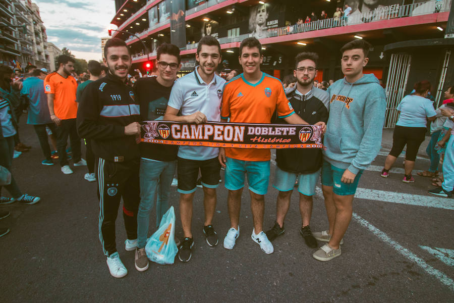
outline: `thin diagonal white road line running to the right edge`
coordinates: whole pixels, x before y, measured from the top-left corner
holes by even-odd
[[[443,272],[433,268],[429,264],[427,264],[424,260],[413,254],[408,248],[405,248],[398,242],[392,240],[387,234],[370,224],[367,220],[360,217],[358,214],[353,213],[353,219],[367,228],[370,232],[376,235],[380,240],[384,241],[386,244],[394,248],[396,251],[400,252],[405,258],[409,259],[410,261],[416,263],[420,266],[426,273],[429,275],[435,276],[441,283],[449,287],[452,291],[454,291],[454,281],[449,278]]]

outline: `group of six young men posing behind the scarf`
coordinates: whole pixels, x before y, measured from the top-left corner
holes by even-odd
[[[156,226],[168,209],[169,191],[177,166],[180,218],[184,239],[178,258],[187,262],[193,254],[193,198],[201,174],[204,192],[204,225],[201,232],[210,246],[218,244],[213,227],[221,166],[229,190],[227,204],[231,226],[223,239],[233,249],[240,235],[240,206],[245,176],[251,197],[251,238],[266,254],[274,251],[271,241],[285,232],[284,221],[296,180],[300,193],[301,234],[309,247],[325,241],[313,257],[328,261],[341,254],[340,245],[352,217],[352,202],[362,171],[380,149],[385,114],[385,94],[373,75],[363,75],[370,44],[362,40],[342,48],[345,78],[327,91],[313,86],[318,56],[301,53],[296,58],[297,84],[288,89],[260,70],[262,47],[256,38],[240,45],[243,73],[229,82],[215,71],[221,62],[219,42],[203,37],[198,44],[194,72],[177,79],[180,51],[164,43],[157,49],[157,76],[127,85],[131,67],[129,48],[118,38],[104,47],[106,77],[88,84],[77,112],[80,137],[90,140],[96,160],[99,198],[99,239],[110,274],[123,277],[127,269],[116,248],[115,220],[123,198],[127,232],[126,250],[135,250],[135,267],[148,268],[145,252],[149,214],[157,195]],[[329,118],[328,118],[329,113]],[[163,117],[162,117],[163,116]],[[277,116],[277,120],[274,119]],[[277,150],[273,186],[279,190],[276,222],[263,230],[264,196],[270,175],[270,150],[217,148],[140,143],[144,120],[163,119],[201,124],[232,123],[313,124],[326,131],[321,149]],[[309,227],[312,196],[321,171],[329,229],[312,233]]]

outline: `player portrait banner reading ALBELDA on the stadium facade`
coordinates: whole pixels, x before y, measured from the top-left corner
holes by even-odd
[[[279,5],[275,2],[258,4],[249,9],[249,32],[256,38],[265,37],[267,30],[279,27]]]

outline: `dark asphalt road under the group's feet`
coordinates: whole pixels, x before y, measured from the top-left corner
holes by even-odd
[[[41,201],[33,206],[15,203],[1,207],[12,213],[0,221],[0,226],[11,229],[0,238],[1,302],[454,301],[453,259],[446,257],[451,260],[448,265],[421,248],[454,249],[454,200],[446,199],[441,207],[432,207],[435,199],[426,194],[432,187],[427,178],[415,176],[415,183],[406,184],[400,174],[383,179],[376,171],[365,171],[359,187],[372,191],[370,196],[366,193],[365,198],[355,198],[355,217],[344,237],[342,256],[329,262],[313,259],[314,249],[308,248],[299,234],[296,193],[286,220],[287,231],[273,242],[274,254],[265,255],[250,238],[252,217],[246,191],[240,237],[233,250],[222,247],[230,227],[223,184],[218,189],[214,220],[219,245],[209,247],[202,233],[203,196],[198,189],[193,258],[188,263],[177,260],[174,265],[150,263],[145,272],[135,269],[134,251],[125,251],[126,233],[119,213],[117,247],[129,272],[125,278],[116,279],[108,272],[97,236],[96,183],[83,179],[86,168],[76,167],[74,174],[63,175],[58,163],[43,166],[33,128],[22,123],[21,138],[33,148],[14,160],[13,173],[22,190],[39,195]],[[377,156],[373,165],[382,166],[384,158]],[[417,160],[415,169],[426,169],[427,164],[427,160]],[[272,165],[271,176],[273,173]],[[2,193],[8,195],[5,189]],[[400,203],[393,203],[394,193],[398,193],[396,200]],[[411,195],[404,197],[401,193]],[[391,198],[386,201],[389,194]],[[173,187],[176,233],[182,238],[178,196]],[[270,185],[265,197],[266,229],[274,223],[276,196]],[[424,206],[406,204],[421,199]],[[154,218],[153,212],[150,235]],[[311,228],[327,228],[319,194],[314,198]]]

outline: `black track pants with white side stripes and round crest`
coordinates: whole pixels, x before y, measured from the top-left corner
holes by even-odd
[[[123,198],[123,221],[128,239],[137,239],[137,212],[140,203],[139,159],[111,162],[96,159],[99,199],[99,240],[107,257],[117,251],[115,221]]]

